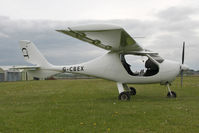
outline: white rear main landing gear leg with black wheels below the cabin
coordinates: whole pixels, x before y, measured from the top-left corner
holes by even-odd
[[[128,101],[131,99],[132,95],[136,95],[136,89],[133,87],[129,88],[127,84],[117,83],[117,88],[119,91],[119,100]]]

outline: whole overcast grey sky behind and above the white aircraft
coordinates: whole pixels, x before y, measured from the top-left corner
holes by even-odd
[[[114,24],[143,47],[165,59],[199,70],[198,0],[0,0],[0,65],[27,65],[19,40],[31,40],[55,65],[88,61],[105,50],[55,29],[86,24]]]

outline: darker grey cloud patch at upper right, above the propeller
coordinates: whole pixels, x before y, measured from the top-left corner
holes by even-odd
[[[193,36],[196,34],[195,29],[199,27],[197,20],[191,18],[191,16],[198,14],[199,8],[193,7],[170,7],[157,14],[157,23],[159,29],[163,31],[169,31],[178,33],[177,35]],[[186,31],[186,33],[184,33]],[[187,34],[191,33],[191,34]]]

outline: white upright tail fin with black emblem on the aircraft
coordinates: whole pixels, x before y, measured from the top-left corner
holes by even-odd
[[[21,40],[19,44],[25,61],[40,67],[52,66],[32,42]]]

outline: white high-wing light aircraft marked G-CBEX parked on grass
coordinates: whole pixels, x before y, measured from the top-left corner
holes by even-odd
[[[131,95],[136,94],[136,89],[128,87],[127,84],[160,83],[167,86],[167,97],[176,97],[176,93],[170,89],[170,84],[181,73],[182,85],[183,71],[188,69],[184,65],[185,43],[183,43],[182,63],[178,63],[165,60],[158,53],[143,49],[119,26],[87,25],[57,31],[88,42],[108,52],[85,63],[55,66],[44,58],[32,42],[22,40],[20,41],[20,47],[23,56],[27,62],[35,66],[18,67],[18,69],[28,69],[29,73],[35,77],[43,78],[67,72],[115,81],[119,91],[119,100],[130,100]],[[126,61],[128,55],[145,57],[145,69],[140,72],[133,71],[130,64]]]

